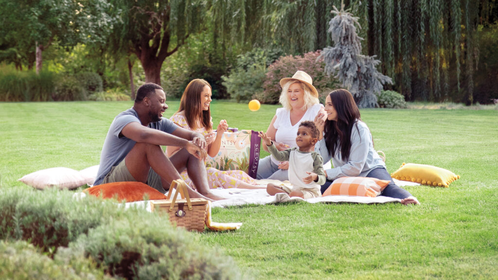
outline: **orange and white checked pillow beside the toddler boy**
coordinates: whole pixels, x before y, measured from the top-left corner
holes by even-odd
[[[322,196],[326,195],[349,195],[349,196],[369,196],[375,197],[390,183],[387,180],[380,180],[370,177],[341,177],[325,190]]]

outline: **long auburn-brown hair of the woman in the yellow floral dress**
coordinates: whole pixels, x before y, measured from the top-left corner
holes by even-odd
[[[180,107],[176,113],[185,111],[185,119],[191,129],[204,127],[207,131],[211,131],[211,110],[208,108],[207,111],[203,111],[203,105],[201,104],[201,93],[205,86],[211,88],[211,85],[206,80],[192,80],[183,92]],[[199,125],[201,125],[200,128],[198,128]]]

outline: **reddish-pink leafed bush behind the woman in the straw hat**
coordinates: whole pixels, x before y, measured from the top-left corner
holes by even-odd
[[[325,62],[323,58],[317,60],[320,50],[305,53],[303,56],[281,56],[268,67],[266,80],[263,83],[264,91],[257,94],[257,99],[262,103],[276,104],[282,91],[280,79],[292,77],[297,70],[302,70],[313,79],[313,85],[318,90],[321,101],[334,88],[337,80],[327,76],[324,72]]]

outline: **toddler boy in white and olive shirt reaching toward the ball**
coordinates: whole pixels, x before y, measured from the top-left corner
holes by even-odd
[[[290,197],[297,196],[304,199],[321,197],[320,185],[325,183],[323,171],[323,158],[315,152],[318,141],[318,129],[310,121],[299,124],[296,136],[297,147],[277,150],[275,144],[264,132],[259,132],[259,137],[268,146],[268,151],[280,161],[289,161],[289,181],[292,187],[277,186],[269,183],[266,192],[275,195],[277,202],[288,201]]]

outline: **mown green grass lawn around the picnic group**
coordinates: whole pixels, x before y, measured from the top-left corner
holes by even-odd
[[[30,172],[99,164],[113,118],[131,102],[0,103],[0,185]],[[166,116],[178,108],[168,102]],[[213,121],[266,130],[278,106],[212,103]],[[238,231],[195,234],[257,279],[498,279],[498,111],[362,110],[389,172],[431,164],[461,178],[406,187],[421,205],[308,204],[213,210]],[[263,154],[264,155],[264,154]]]

